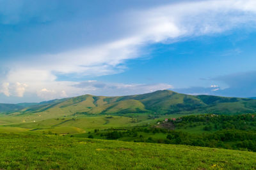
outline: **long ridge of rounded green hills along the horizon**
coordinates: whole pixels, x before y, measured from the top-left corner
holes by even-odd
[[[256,100],[206,95],[191,96],[179,94],[171,90],[159,90],[148,94],[117,97],[92,96],[87,94],[38,103],[26,109],[23,108],[20,114],[47,113],[51,115],[72,115],[155,112],[159,114],[256,113]]]

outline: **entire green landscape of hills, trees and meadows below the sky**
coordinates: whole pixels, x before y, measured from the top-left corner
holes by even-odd
[[[22,104],[18,111],[12,106],[0,113],[0,147],[7,147],[2,152],[4,156],[0,156],[0,167],[41,167],[39,158],[19,161],[20,154],[29,154],[28,159],[40,153],[40,159],[47,160],[45,169],[74,167],[74,162],[79,162],[76,165],[79,169],[85,166],[89,157],[94,163],[86,163],[86,167],[97,168],[96,158],[92,158],[95,154],[105,157],[106,160],[100,160],[99,164],[110,169],[113,166],[121,169],[124,166],[137,169],[165,169],[167,166],[253,169],[256,166],[253,160],[256,152],[255,105],[254,99],[189,96],[161,90],[136,96],[85,95],[56,99]],[[11,145],[7,146],[8,141]],[[14,146],[15,143],[20,144]],[[18,150],[19,147],[22,148]],[[55,148],[50,154],[47,147]],[[6,158],[11,148],[16,151],[12,152],[13,160],[8,162]],[[83,159],[76,155],[85,153],[87,156]],[[148,157],[143,156],[145,153]],[[62,156],[57,156],[56,160],[52,154]],[[72,155],[71,162],[66,160],[68,154]],[[113,160],[113,154],[120,159]],[[250,159],[244,160],[248,154]],[[122,161],[126,159],[129,162],[124,165]],[[111,160],[111,164],[107,160]],[[13,164],[13,161],[19,163]],[[141,161],[143,163],[138,164]],[[173,164],[167,165],[167,162]]]

